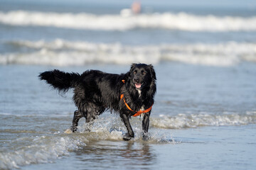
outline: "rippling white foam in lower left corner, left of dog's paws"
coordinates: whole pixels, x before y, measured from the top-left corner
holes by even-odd
[[[0,153],[0,169],[14,169],[28,164],[53,162],[55,159],[68,155],[70,150],[84,146],[82,137],[36,137],[34,145]]]

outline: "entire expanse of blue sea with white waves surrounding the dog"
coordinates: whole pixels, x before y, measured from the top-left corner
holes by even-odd
[[[0,169],[255,169],[254,1],[1,1]],[[65,134],[76,110],[38,74],[153,64],[149,141],[118,114]]]

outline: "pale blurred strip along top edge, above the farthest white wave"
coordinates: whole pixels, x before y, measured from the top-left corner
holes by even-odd
[[[93,8],[130,8],[134,1],[132,0],[124,0],[124,1],[117,1],[117,0],[110,0],[110,1],[100,1],[100,0],[1,0],[0,10],[4,10],[5,6],[9,6],[10,4],[16,3],[16,6],[22,7],[22,5],[43,5],[43,6],[70,6],[70,7],[78,7],[82,8],[84,6],[90,6]],[[161,0],[161,1],[154,1],[154,0],[140,0],[142,4],[142,8],[154,8],[156,11],[159,9],[168,11],[171,8],[178,8],[181,11],[184,9],[189,8],[197,8],[197,9],[213,9],[213,8],[237,8],[237,9],[247,9],[248,11],[255,11],[256,10],[256,1],[253,0],[223,0],[223,1],[203,1],[203,0],[181,0],[181,1],[174,1],[174,0]],[[23,6],[24,7],[24,6]]]

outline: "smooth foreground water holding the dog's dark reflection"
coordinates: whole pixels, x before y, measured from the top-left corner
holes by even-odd
[[[66,169],[253,169],[255,166],[255,143],[244,141],[255,138],[255,135],[245,135],[255,131],[255,125],[174,131],[186,136],[179,138],[183,142],[164,145],[89,142],[70,157],[58,159],[53,164],[23,169],[59,169],[63,166]]]

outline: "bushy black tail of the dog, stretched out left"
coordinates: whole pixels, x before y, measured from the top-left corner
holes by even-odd
[[[70,88],[74,88],[75,84],[80,82],[80,74],[61,72],[58,69],[42,72],[38,77],[41,80],[46,80],[50,86],[53,86],[54,89],[62,93],[67,92]]]

